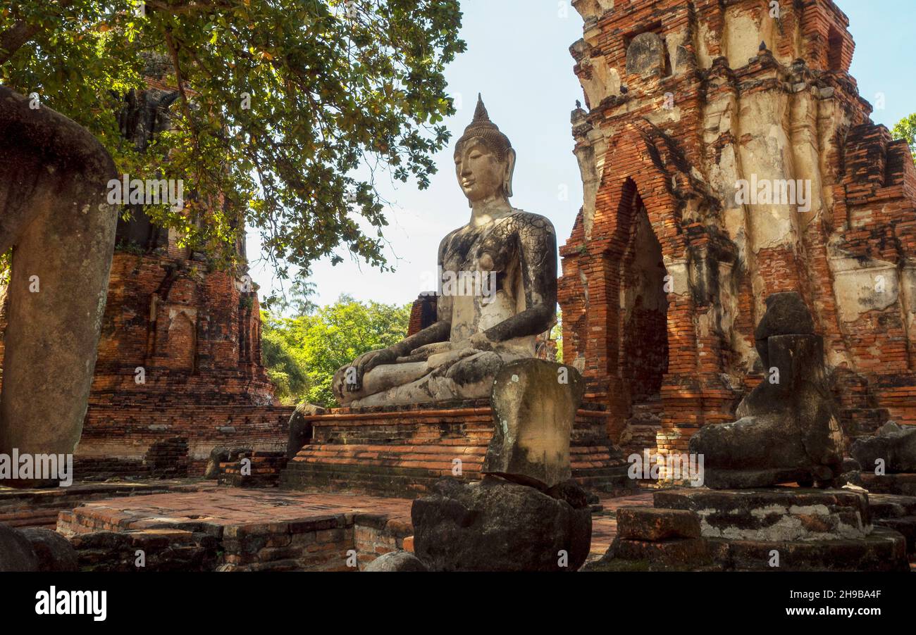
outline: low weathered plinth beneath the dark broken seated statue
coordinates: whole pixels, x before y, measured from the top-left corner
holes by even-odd
[[[587,569],[906,571],[911,541],[900,529],[911,531],[912,499],[892,498],[869,505],[851,489],[659,490],[652,507],[616,514],[610,549]],[[879,509],[889,522],[872,526]]]

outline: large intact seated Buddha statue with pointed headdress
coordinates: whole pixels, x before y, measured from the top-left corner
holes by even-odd
[[[485,398],[496,371],[507,361],[534,357],[536,336],[553,324],[553,225],[509,205],[515,151],[479,98],[454,160],[471,220],[439,246],[438,320],[337,371],[333,391],[341,404]]]

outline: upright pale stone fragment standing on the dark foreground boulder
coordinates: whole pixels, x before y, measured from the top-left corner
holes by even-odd
[[[584,382],[571,366],[513,361],[496,373],[484,474],[548,489],[570,479],[570,436]]]

